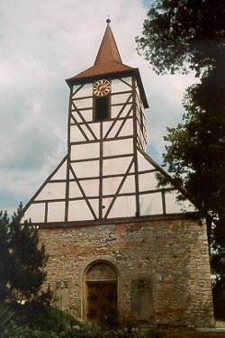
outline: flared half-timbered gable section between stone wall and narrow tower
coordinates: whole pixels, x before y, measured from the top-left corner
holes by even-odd
[[[76,225],[84,221],[99,224],[124,217],[163,218],[196,212],[187,198],[177,201],[178,195],[184,195],[182,187],[177,187],[173,178],[140,149],[137,152],[137,172],[131,156],[119,157],[110,160],[100,179],[100,160],[94,162],[69,164],[65,158],[31,198],[24,209],[24,218],[31,218],[33,224]],[[168,179],[169,187],[158,187],[159,173]]]

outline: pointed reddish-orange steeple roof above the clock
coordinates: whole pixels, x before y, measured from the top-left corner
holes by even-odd
[[[85,69],[73,78],[68,78],[67,83],[71,82],[73,79],[90,78],[98,75],[133,69],[132,67],[122,63],[121,55],[117,48],[110,26],[110,20],[107,19],[106,23],[106,30],[103,34],[103,40],[94,61],[94,66],[89,69]]]

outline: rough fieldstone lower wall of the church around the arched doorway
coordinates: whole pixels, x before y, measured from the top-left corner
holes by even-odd
[[[119,271],[121,323],[211,326],[213,311],[206,226],[174,219],[40,230],[48,280],[58,306],[85,318],[84,274],[94,260]]]

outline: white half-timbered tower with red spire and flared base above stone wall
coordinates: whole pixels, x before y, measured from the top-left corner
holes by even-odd
[[[109,19],[94,65],[66,82],[67,156],[25,217],[48,227],[181,213],[175,197],[184,189],[146,152],[148,102],[139,69],[122,63]],[[157,187],[156,174],[171,187]]]

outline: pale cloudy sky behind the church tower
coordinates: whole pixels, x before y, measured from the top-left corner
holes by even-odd
[[[162,164],[166,126],[181,122],[187,76],[157,76],[136,51],[151,1],[7,0],[0,8],[0,208],[31,199],[67,154],[65,82],[94,64],[111,19],[123,63],[148,97],[148,153]]]

